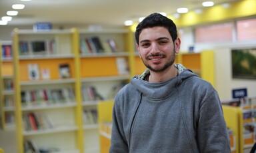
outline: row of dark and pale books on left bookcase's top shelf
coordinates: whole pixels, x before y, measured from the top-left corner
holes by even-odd
[[[19,41],[19,55],[53,55],[56,53],[57,47],[54,39]]]

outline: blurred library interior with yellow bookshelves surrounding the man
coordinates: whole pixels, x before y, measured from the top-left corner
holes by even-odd
[[[175,63],[217,90],[231,152],[249,153],[256,0],[204,2],[0,1],[0,153],[109,152],[115,95],[146,69],[135,28],[156,12],[177,25]]]

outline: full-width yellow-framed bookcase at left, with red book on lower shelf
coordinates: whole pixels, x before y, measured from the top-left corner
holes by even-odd
[[[33,141],[38,148],[83,152],[77,37],[77,29],[13,30],[19,152],[25,150],[23,144],[27,141]]]

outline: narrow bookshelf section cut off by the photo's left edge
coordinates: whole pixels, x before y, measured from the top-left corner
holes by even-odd
[[[0,97],[1,97],[1,127],[3,130],[13,129],[13,64],[11,59],[11,41],[0,42]]]

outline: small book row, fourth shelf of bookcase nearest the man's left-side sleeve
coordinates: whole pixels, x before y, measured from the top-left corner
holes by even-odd
[[[98,112],[96,108],[83,109],[83,124],[97,124]]]

